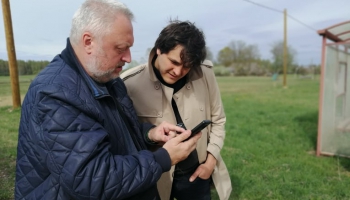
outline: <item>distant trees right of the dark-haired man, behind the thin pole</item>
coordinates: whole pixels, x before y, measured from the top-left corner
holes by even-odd
[[[319,74],[320,66],[310,64],[302,66],[296,63],[297,51],[287,46],[287,73],[301,76]],[[226,74],[236,76],[265,76],[283,73],[283,41],[276,41],[272,44],[270,53],[271,60],[261,59],[259,48],[254,44],[247,44],[244,41],[231,41],[226,47],[218,52],[214,59],[216,66],[223,66],[228,71]],[[208,51],[208,50],[207,50]],[[209,54],[210,55],[210,54]],[[212,59],[213,58],[208,58]]]

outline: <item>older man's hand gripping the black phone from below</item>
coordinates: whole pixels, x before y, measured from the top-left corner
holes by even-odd
[[[170,155],[171,165],[176,165],[178,162],[186,159],[188,155],[196,148],[197,141],[202,136],[202,133],[198,133],[191,139],[183,142],[191,135],[190,130],[186,130],[181,134],[177,134],[176,137],[167,141],[163,148],[166,149]]]

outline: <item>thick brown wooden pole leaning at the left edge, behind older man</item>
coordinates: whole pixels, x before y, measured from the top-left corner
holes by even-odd
[[[8,63],[9,63],[10,78],[11,78],[12,103],[13,103],[13,108],[18,108],[21,106],[21,95],[19,93],[18,68],[17,68],[15,43],[14,43],[13,32],[12,32],[10,2],[9,0],[1,0],[1,2],[2,2],[2,13],[4,16],[7,55],[9,59]]]

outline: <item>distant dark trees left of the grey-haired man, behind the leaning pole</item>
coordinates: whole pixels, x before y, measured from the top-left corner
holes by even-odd
[[[17,60],[17,68],[19,75],[35,75],[38,74],[49,64],[49,61],[35,61],[35,60]],[[9,64],[6,60],[0,59],[0,76],[9,76]]]

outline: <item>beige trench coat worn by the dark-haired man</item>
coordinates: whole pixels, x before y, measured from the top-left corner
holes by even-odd
[[[152,50],[150,58],[154,54],[155,51]],[[120,76],[140,121],[155,125],[163,121],[176,124],[172,98],[176,101],[187,128],[193,128],[202,120],[210,119],[213,123],[202,130],[202,137],[197,143],[198,160],[199,163],[204,162],[207,152],[217,159],[212,179],[220,199],[228,199],[232,190],[231,179],[220,155],[225,139],[226,116],[211,61],[204,61],[197,70],[191,69],[188,82],[174,95],[172,88],[164,86],[156,78],[150,62],[151,59],[148,64],[131,68]],[[170,198],[173,171],[174,166],[169,172],[163,173],[158,181],[162,200]]]

